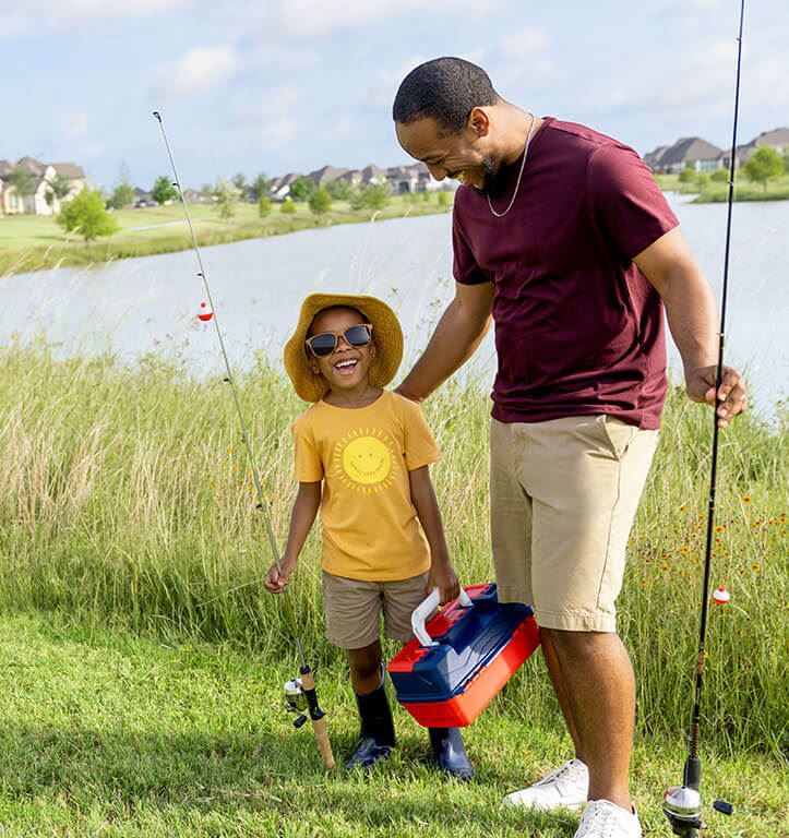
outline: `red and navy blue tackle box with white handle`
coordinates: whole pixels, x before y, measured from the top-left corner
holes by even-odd
[[[531,609],[471,585],[426,625],[434,590],[411,618],[414,638],[388,665],[397,701],[427,728],[470,725],[539,646]]]

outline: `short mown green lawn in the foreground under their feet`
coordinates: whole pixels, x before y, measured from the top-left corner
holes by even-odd
[[[506,694],[466,731],[478,769],[470,783],[440,779],[425,732],[399,708],[386,764],[370,776],[327,776],[309,726],[294,730],[283,711],[292,660],[8,613],[0,655],[3,838],[570,838],[577,824],[570,813],[501,807],[504,793],[569,753],[555,709],[534,719],[528,703]],[[540,665],[529,661],[515,680],[545,678]],[[357,729],[345,669],[318,679],[340,762]],[[679,732],[636,744],[633,790],[647,836],[670,834],[660,795],[683,758]],[[703,759],[707,807],[714,797],[734,804],[730,818],[710,813],[710,838],[789,834],[785,765],[756,751],[704,751]]]

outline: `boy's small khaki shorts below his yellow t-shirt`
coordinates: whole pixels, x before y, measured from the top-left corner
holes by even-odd
[[[427,597],[428,574],[397,582],[362,582],[323,572],[326,639],[340,649],[361,649],[381,637],[383,612],[386,637],[407,643],[413,636],[411,613]]]

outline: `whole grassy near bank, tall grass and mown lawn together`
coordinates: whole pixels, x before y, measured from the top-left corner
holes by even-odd
[[[238,386],[282,543],[303,404],[263,363]],[[464,584],[490,579],[489,399],[450,382],[425,411],[453,562]],[[0,347],[0,836],[570,838],[572,815],[500,806],[569,754],[539,655],[469,729],[473,783],[439,779],[404,711],[381,770],[324,776],[309,728],[284,713],[296,663],[263,590],[271,559],[236,423],[222,383],[162,359]],[[619,626],[646,835],[668,835],[660,795],[685,756],[710,430],[671,388],[627,547]],[[731,603],[709,614],[703,791],[736,814],[710,815],[710,838],[789,835],[788,431],[779,407],[772,426],[752,411],[721,438],[713,585]],[[342,761],[357,720],[323,638],[319,549],[313,531],[289,590]]]

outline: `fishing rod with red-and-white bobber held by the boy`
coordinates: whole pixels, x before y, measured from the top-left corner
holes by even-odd
[[[178,169],[176,168],[176,161],[175,161],[175,158],[172,157],[170,143],[167,140],[165,123],[162,120],[162,115],[159,113],[158,110],[155,110],[153,113],[157,122],[159,123],[159,128],[162,129],[162,139],[165,142],[167,156],[170,159],[170,168],[172,169],[172,177],[174,177],[172,185],[178,191],[178,197],[180,199],[181,206],[183,207],[183,214],[187,218],[187,226],[189,227],[189,232],[192,237],[192,247],[198,258],[198,265],[200,266],[198,276],[203,280],[205,296],[206,296],[206,299],[208,300],[207,303],[205,302],[201,303],[201,308],[198,316],[203,322],[207,322],[211,320],[214,321],[214,326],[216,328],[216,336],[219,340],[219,349],[222,350],[222,357],[223,357],[223,360],[225,361],[225,371],[227,373],[225,375],[225,382],[230,386],[230,393],[232,394],[232,403],[236,406],[236,414],[238,416],[239,424],[241,426],[241,440],[243,441],[244,447],[247,450],[247,458],[249,460],[249,464],[252,470],[252,481],[254,483],[254,489],[258,498],[258,503],[255,505],[255,508],[263,516],[263,525],[265,527],[266,536],[268,538],[268,546],[271,547],[271,551],[274,556],[274,563],[277,567],[277,571],[282,574],[279,550],[277,548],[277,541],[276,541],[276,538],[274,537],[274,529],[271,523],[268,501],[266,499],[265,492],[263,491],[263,483],[260,478],[260,472],[258,471],[258,464],[255,462],[254,455],[252,454],[252,446],[249,441],[249,433],[247,432],[247,422],[244,421],[243,411],[241,410],[241,403],[239,402],[239,398],[238,398],[238,391],[236,388],[236,382],[232,375],[232,370],[230,368],[230,361],[227,357],[227,351],[225,349],[225,340],[222,336],[222,330],[219,328],[219,320],[216,315],[214,299],[211,295],[211,287],[208,286],[208,275],[205,272],[205,267],[203,265],[203,259],[200,253],[200,248],[198,247],[198,239],[194,235],[194,227],[192,226],[191,216],[189,215],[189,207],[187,205],[186,200],[183,199],[183,190],[181,189],[181,179],[178,177]],[[314,673],[310,669],[307,662],[307,658],[304,657],[304,650],[301,645],[298,624],[296,622],[292,604],[290,602],[290,598],[287,591],[282,592],[278,601],[282,609],[283,619],[287,624],[288,630],[290,631],[290,634],[294,638],[294,643],[296,644],[296,649],[299,655],[299,661],[301,663],[299,668],[299,677],[288,681],[285,684],[285,698],[287,702],[287,710],[288,713],[296,714],[296,719],[294,720],[294,727],[296,728],[300,728],[307,721],[306,714],[309,714],[310,720],[312,722],[312,730],[314,731],[315,739],[318,740],[318,750],[321,753],[321,758],[323,759],[323,764],[326,767],[326,770],[331,771],[334,769],[334,754],[332,753],[332,745],[328,741],[328,734],[326,732],[326,722],[325,722],[326,714],[321,709],[318,703],[318,693],[315,691]]]

